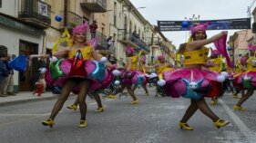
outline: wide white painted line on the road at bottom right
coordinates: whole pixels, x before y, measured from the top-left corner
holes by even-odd
[[[230,110],[230,108],[228,107],[228,105],[223,101],[220,100],[221,105],[223,106],[224,110],[227,111],[227,113],[229,114],[230,118],[233,120],[233,122],[236,124],[236,126],[241,130],[241,134],[247,138],[247,140],[250,143],[255,143],[256,142],[256,138],[254,133],[251,131],[251,129],[249,129],[244,123],[243,121],[241,121],[241,119],[232,111]]]

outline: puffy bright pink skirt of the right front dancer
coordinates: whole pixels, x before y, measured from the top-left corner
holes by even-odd
[[[166,71],[163,79],[166,81],[164,91],[168,96],[190,99],[217,96],[220,93],[221,81],[224,81],[220,79],[218,72],[197,68]]]

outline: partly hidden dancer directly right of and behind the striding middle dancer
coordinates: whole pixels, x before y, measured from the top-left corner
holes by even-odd
[[[142,84],[142,88],[144,89],[146,96],[148,96],[148,89],[147,89],[147,83],[148,83],[148,77],[147,76],[148,76],[148,74],[147,74],[146,67],[147,67],[147,65],[146,65],[146,56],[142,56],[140,58],[139,67],[138,68],[139,68],[139,71],[142,71],[144,73],[144,75],[145,75],[146,81],[145,81],[145,83]],[[138,87],[138,84],[135,84],[133,86],[132,90],[135,91],[137,89],[137,87]]]

